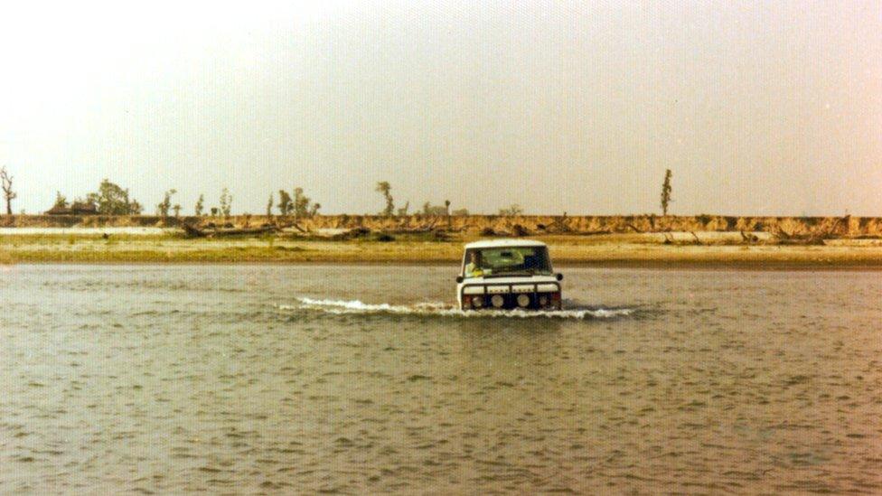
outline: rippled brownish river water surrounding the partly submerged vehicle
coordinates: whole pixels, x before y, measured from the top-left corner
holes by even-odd
[[[0,493],[882,492],[882,275],[0,267]]]

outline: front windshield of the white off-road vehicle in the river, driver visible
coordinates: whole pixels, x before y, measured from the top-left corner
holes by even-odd
[[[465,250],[465,277],[551,275],[545,247],[471,248]]]

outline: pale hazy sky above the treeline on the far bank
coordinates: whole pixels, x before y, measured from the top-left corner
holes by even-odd
[[[882,215],[879,1],[118,4],[4,6],[15,211]]]

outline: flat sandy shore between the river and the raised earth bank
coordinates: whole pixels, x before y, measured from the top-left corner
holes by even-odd
[[[102,229],[99,232],[104,232]],[[52,231],[54,232],[54,231]],[[140,231],[139,231],[140,232]],[[152,231],[151,231],[152,232]],[[695,238],[698,238],[698,241]],[[295,237],[184,239],[123,230],[107,238],[76,234],[0,236],[2,263],[339,263],[451,264],[476,236],[446,241],[396,237],[394,241],[309,240]],[[539,236],[556,265],[595,267],[882,268],[882,241],[837,239],[821,246],[746,246],[733,233]],[[700,243],[700,244],[696,244]]]

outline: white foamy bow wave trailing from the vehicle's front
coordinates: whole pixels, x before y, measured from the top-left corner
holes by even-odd
[[[297,298],[298,305],[278,305],[280,310],[314,310],[326,314],[402,314],[427,315],[443,317],[495,317],[495,318],[557,318],[587,319],[613,318],[633,314],[632,308],[585,308],[577,307],[567,310],[527,311],[527,310],[483,310],[480,312],[464,311],[442,303],[419,304],[366,304],[359,300],[329,300],[314,298]]]

